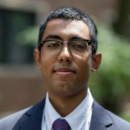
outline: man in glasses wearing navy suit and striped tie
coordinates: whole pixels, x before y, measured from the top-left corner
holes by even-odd
[[[0,130],[130,130],[130,124],[101,107],[88,88],[101,53],[97,29],[84,12],[62,7],[40,27],[34,57],[47,87],[40,103],[5,117]]]

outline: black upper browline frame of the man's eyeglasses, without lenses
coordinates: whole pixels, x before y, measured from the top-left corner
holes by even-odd
[[[90,39],[73,39],[73,40],[70,40],[70,41],[43,40],[43,41],[40,41],[40,42],[39,42],[38,49],[40,50],[41,47],[43,47],[44,43],[47,42],[47,41],[57,41],[57,42],[60,42],[62,45],[63,45],[64,43],[68,43],[68,44],[70,45],[71,42],[74,42],[74,41],[86,41],[89,46],[92,45],[92,46],[94,47],[93,42],[92,42],[92,40],[90,40]],[[95,47],[94,47],[94,49],[95,49]]]

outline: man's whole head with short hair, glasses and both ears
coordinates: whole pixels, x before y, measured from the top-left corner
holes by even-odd
[[[59,8],[45,19],[34,56],[49,95],[86,94],[90,73],[101,62],[96,36],[94,22],[78,9]]]

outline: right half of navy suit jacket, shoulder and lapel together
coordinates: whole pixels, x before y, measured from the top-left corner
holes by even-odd
[[[130,123],[94,101],[90,130],[130,130]]]

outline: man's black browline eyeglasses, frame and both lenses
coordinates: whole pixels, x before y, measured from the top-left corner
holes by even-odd
[[[39,43],[38,49],[40,50],[41,47],[43,47],[43,52],[46,55],[58,55],[61,52],[64,43],[68,43],[71,53],[83,55],[88,51],[92,41],[89,39],[74,39],[65,42],[60,40],[44,40]]]

